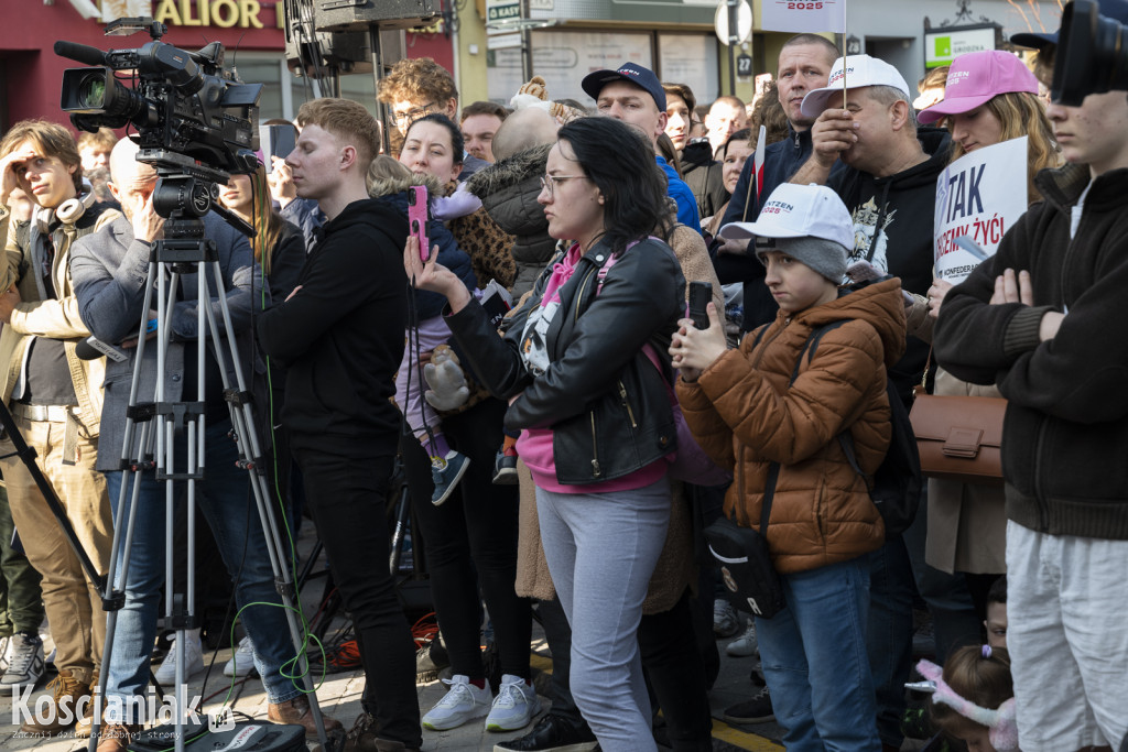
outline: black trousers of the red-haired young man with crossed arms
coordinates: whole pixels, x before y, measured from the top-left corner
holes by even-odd
[[[423,744],[415,643],[388,569],[386,497],[393,457],[346,457],[294,448],[309,511],[333,581],[352,613],[364,666],[364,709],[377,736]]]

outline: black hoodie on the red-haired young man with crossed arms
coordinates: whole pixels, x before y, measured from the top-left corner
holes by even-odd
[[[289,368],[282,423],[296,449],[394,454],[395,373],[404,354],[407,218],[354,201],[323,228],[301,290],[258,318],[258,339]]]

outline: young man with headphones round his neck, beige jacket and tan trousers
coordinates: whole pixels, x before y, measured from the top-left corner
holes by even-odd
[[[2,206],[17,187],[36,206],[27,231],[9,235]],[[74,240],[116,216],[116,211],[95,204],[83,187],[78,148],[63,126],[24,121],[0,141],[0,233],[8,238],[0,263],[0,396],[35,450],[79,542],[102,570],[109,564],[113,541],[106,481],[94,465],[105,359],[83,361],[76,355],[77,343],[90,333],[78,315],[68,262]],[[98,591],[12,451],[10,437],[0,440],[0,455],[7,455],[0,470],[12,519],[28,560],[43,575],[43,603],[54,627],[59,669],[49,684],[55,713],[36,714],[21,731],[51,735],[73,723],[74,704],[89,696],[96,682],[106,619]],[[19,691],[43,673],[43,646],[34,632],[17,634],[12,640],[17,653],[0,685]]]

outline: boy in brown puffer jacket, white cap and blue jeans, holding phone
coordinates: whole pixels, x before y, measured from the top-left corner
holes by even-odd
[[[734,230],[759,238],[756,253],[779,313],[732,351],[714,307],[707,329],[682,320],[670,347],[681,371],[678,399],[702,448],[733,469],[725,513],[738,524],[758,527],[768,470],[778,465],[760,532],[786,608],[756,617],[756,635],[785,745],[870,752],[881,741],[865,644],[866,555],[881,547],[884,528],[837,436],[851,433],[866,474],[884,459],[885,369],[905,350],[900,281],[840,293],[852,222],[823,186],[784,184],[758,221]],[[804,353],[813,331],[838,321],[813,356]]]

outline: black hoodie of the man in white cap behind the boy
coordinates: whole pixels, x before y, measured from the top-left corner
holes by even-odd
[[[901,278],[901,287],[925,294],[932,286],[933,218],[936,178],[951,152],[948,131],[922,127],[917,139],[927,159],[888,177],[846,170],[829,180],[854,219],[851,262],[865,258]],[[906,343],[905,356],[889,370],[901,399],[911,401],[928,359],[928,345],[916,337]]]

